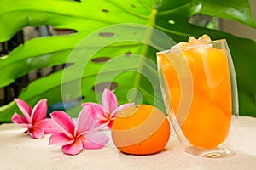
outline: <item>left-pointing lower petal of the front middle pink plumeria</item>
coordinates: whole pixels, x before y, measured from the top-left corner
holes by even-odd
[[[68,138],[64,133],[53,133],[49,137],[49,144],[67,145],[72,144],[74,139]]]

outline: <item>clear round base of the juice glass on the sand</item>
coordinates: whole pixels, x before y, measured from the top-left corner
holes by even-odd
[[[189,154],[207,158],[225,158],[234,155],[234,151],[226,148],[214,148],[211,150],[203,150],[195,147],[188,147],[185,151]]]

